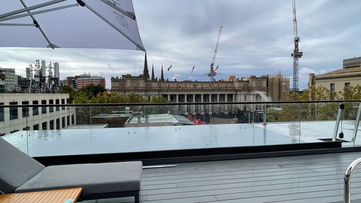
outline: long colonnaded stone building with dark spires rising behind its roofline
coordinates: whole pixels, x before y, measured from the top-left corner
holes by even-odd
[[[248,78],[235,78],[227,81],[222,79],[212,82],[177,81],[176,79],[175,81],[169,81],[163,75],[162,69],[160,79],[155,78],[154,68],[152,68],[152,75],[150,77],[147,54],[145,53],[143,74],[139,76],[127,74],[122,75],[120,78],[118,76],[112,77],[111,91],[117,91],[121,94],[129,94],[133,91],[138,95],[143,95],[148,100],[151,100],[155,95],[162,95],[166,100],[173,103],[267,101],[268,78],[265,75],[261,77],[251,75]],[[289,89],[289,79],[287,88]],[[278,98],[276,99],[279,100]],[[241,108],[242,110],[249,110],[249,105]],[[218,111],[218,109],[214,111],[216,110]],[[202,109],[201,111],[207,110]],[[227,109],[224,111],[227,112]]]

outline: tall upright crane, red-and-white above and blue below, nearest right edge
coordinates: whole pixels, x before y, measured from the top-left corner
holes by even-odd
[[[300,42],[300,36],[297,34],[297,19],[296,19],[296,4],[295,0],[292,0],[293,7],[293,33],[294,33],[294,42],[295,49],[293,49],[293,92],[298,90],[298,59],[302,57],[303,53],[299,51],[298,43]]]

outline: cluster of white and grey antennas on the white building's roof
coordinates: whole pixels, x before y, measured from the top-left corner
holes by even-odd
[[[53,66],[52,66],[53,65]],[[30,78],[29,93],[60,93],[59,63],[45,65],[45,61],[35,60],[35,65],[26,67],[26,77]],[[47,75],[48,73],[48,75]]]

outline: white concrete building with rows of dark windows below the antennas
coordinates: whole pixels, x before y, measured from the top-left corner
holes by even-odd
[[[69,94],[0,94],[1,105],[66,104]],[[75,125],[75,107],[0,108],[0,136],[21,130],[57,130]]]

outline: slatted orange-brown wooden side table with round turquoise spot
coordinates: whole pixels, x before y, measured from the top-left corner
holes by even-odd
[[[14,193],[0,195],[0,203],[75,203],[82,188],[47,190],[30,193]],[[68,200],[73,199],[73,201]]]

